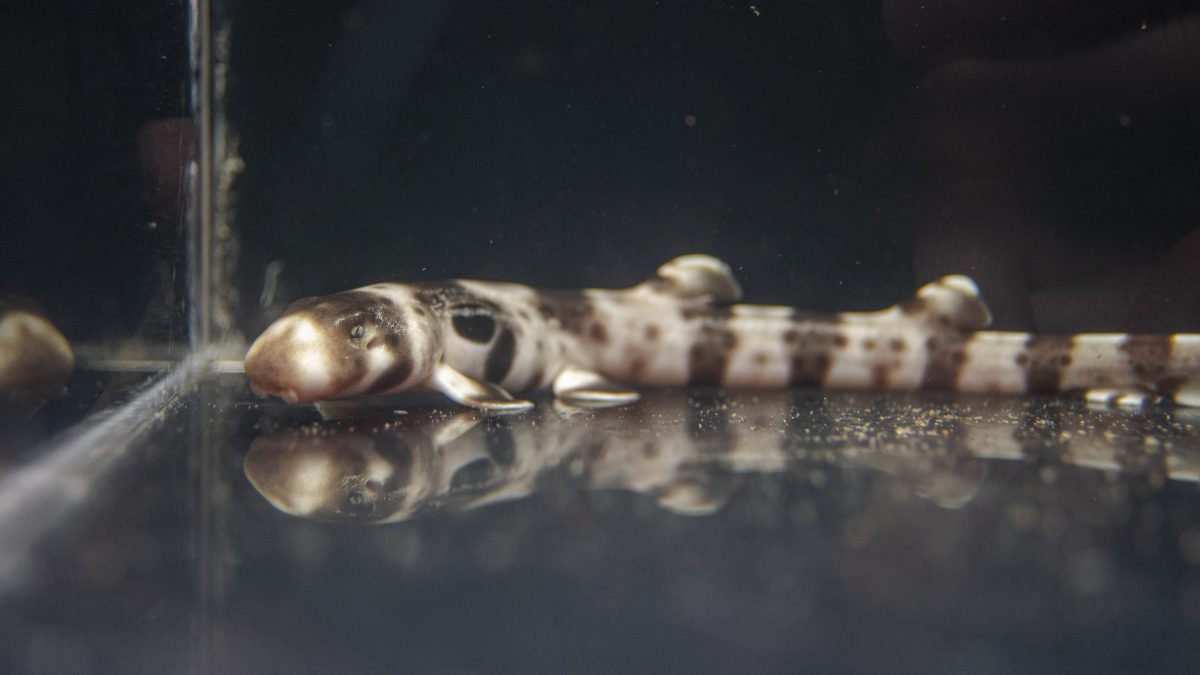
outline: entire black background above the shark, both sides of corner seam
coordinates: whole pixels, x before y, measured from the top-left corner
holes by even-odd
[[[964,271],[1004,328],[1200,329],[1193,7],[218,5],[232,297],[253,336],[376,280],[611,286],[706,251],[752,300],[870,307]],[[76,341],[180,339],[186,7],[0,19],[0,288]]]

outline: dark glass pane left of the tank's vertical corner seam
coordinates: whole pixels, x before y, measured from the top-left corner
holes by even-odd
[[[186,336],[186,12],[0,8],[0,292],[37,300],[72,341]]]

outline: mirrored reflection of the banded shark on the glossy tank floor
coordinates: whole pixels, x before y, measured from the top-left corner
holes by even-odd
[[[246,477],[276,508],[314,520],[394,522],[517,500],[548,476],[631,490],[673,513],[720,509],[740,476],[882,471],[946,508],[968,503],[998,461],[1043,479],[1060,466],[1158,485],[1200,482],[1192,411],[1094,411],[1061,400],[828,393],[682,393],[595,412],[515,417],[414,410],[336,419],[258,437]],[[1051,471],[1046,471],[1050,468]]]

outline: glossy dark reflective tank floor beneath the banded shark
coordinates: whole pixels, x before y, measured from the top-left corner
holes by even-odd
[[[0,670],[1200,659],[1195,411],[652,392],[486,418],[413,401],[322,420],[204,381],[0,568]]]

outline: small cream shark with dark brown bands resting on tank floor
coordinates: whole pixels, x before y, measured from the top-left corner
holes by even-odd
[[[683,256],[631,288],[376,283],[293,303],[254,341],[260,394],[313,402],[431,388],[485,411],[636,401],[629,386],[1079,392],[1105,405],[1200,406],[1200,335],[985,330],[966,276],[892,307],[818,315],[742,305],[728,265]],[[628,383],[628,384],[622,384]]]

